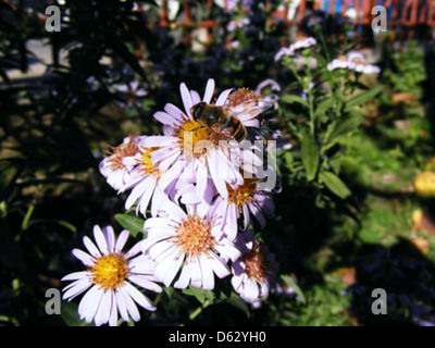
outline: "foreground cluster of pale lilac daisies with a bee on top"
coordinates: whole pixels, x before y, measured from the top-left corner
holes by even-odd
[[[271,102],[245,88],[213,99],[214,89],[209,79],[201,98],[181,84],[183,109],[167,103],[154,113],[162,135],[128,136],[100,163],[108,184],[128,191],[125,209],[145,217],[146,238],[124,252],[127,231],[116,238],[112,227],[95,226],[97,245],[85,237],[87,252],[73,250],[86,271],[63,278],[73,281],[63,298],[86,291],[80,319],[138,321],[136,304],[156,310],[145,291],[212,290],[216,278],[229,277],[254,307],[269,295],[277,265],[252,228],[274,211],[273,188],[262,185],[268,158],[259,154],[258,116]]]

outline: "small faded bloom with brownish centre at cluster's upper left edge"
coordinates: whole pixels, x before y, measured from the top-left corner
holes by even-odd
[[[139,153],[139,139],[136,136],[125,137],[120,146],[111,147],[109,156],[101,161],[100,172],[114,189],[121,189],[128,182],[136,165],[135,158]]]

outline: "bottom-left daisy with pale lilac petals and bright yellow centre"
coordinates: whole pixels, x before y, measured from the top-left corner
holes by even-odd
[[[128,231],[123,231],[115,238],[111,226],[102,231],[94,227],[94,237],[97,246],[88,237],[83,241],[88,252],[74,249],[73,254],[80,260],[87,270],[71,273],[62,281],[74,281],[63,288],[63,299],[71,301],[76,296],[86,291],[78,304],[78,315],[90,323],[92,320],[97,326],[109,323],[117,324],[117,315],[128,322],[140,320],[139,311],[135,304],[154,311],[153,303],[140,293],[132,283],[145,289],[161,293],[162,289],[154,282],[156,264],[146,256],[140,254],[139,244],[136,244],[127,253],[123,253],[129,236]],[[134,258],[135,257],[135,258]]]

